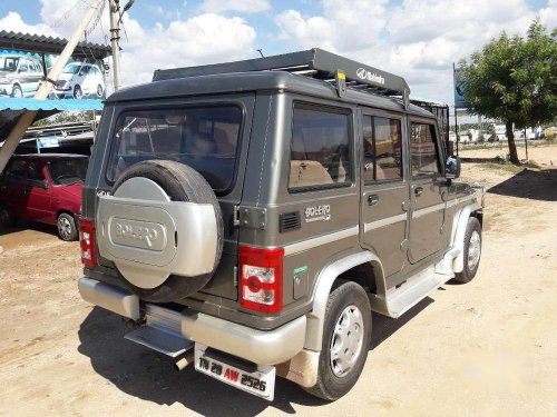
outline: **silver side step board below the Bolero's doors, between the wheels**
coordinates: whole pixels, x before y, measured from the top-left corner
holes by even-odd
[[[389,317],[398,318],[453,277],[452,272],[436,272],[436,267],[431,266],[409,278],[398,288],[389,289],[385,299],[372,296],[371,308]]]

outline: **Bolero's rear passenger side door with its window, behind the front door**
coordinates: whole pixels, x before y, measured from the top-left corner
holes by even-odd
[[[404,265],[408,181],[403,163],[403,117],[362,109],[362,246],[381,259],[385,276]],[[405,210],[404,210],[405,209]]]

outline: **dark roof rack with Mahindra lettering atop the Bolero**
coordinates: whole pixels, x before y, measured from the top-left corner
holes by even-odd
[[[287,71],[329,81],[334,83],[341,98],[346,88],[351,88],[381,96],[402,96],[404,108],[410,105],[410,88],[402,77],[319,48],[244,61],[156,70],[153,81],[251,71]]]

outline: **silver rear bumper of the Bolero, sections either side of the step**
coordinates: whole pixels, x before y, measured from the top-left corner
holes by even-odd
[[[86,301],[124,317],[140,318],[139,298],[131,292],[86,277],[79,279],[78,287]],[[285,363],[300,354],[305,326],[305,316],[265,331],[188,308],[179,314],[179,331],[184,338],[260,365]]]

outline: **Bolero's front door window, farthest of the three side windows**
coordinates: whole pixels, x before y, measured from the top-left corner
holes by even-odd
[[[410,153],[412,156],[412,177],[441,173],[433,125],[411,125]]]

